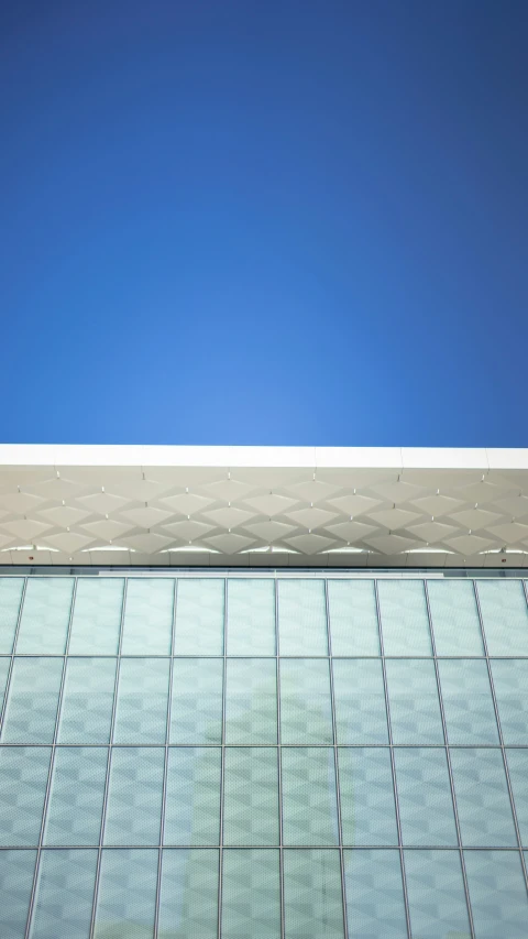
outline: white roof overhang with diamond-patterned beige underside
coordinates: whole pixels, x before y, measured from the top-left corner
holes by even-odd
[[[528,449],[0,446],[0,565],[528,567]]]

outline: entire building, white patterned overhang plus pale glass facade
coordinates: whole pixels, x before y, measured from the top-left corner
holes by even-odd
[[[0,448],[0,939],[527,939],[528,451]]]

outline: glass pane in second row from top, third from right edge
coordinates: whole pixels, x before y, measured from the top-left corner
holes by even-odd
[[[387,659],[393,743],[443,743],[437,676],[431,659]]]

